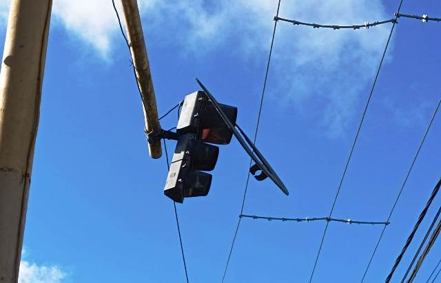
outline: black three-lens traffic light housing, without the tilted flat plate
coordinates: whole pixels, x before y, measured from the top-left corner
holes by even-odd
[[[221,104],[220,107],[232,123],[236,123],[237,108]],[[167,175],[164,193],[175,202],[184,198],[207,196],[212,184],[212,171],[219,148],[232,140],[232,130],[225,125],[212,101],[204,92],[185,96],[181,116],[176,127],[178,142]]]

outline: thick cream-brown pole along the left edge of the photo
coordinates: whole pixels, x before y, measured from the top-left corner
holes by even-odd
[[[19,279],[52,0],[13,0],[0,72],[0,282]]]

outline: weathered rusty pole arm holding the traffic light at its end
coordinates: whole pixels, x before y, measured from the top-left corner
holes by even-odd
[[[143,27],[139,8],[136,0],[121,0],[125,18],[125,27],[127,29],[127,39],[130,45],[133,64],[136,72],[145,118],[145,132],[157,134],[161,131],[161,125],[158,120],[158,109],[156,107],[156,98],[150,73],[150,64],[145,48]],[[161,140],[150,142],[149,152],[152,158],[162,156]]]

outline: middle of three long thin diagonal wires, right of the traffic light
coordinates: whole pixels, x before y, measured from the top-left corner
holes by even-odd
[[[401,6],[402,6],[402,1],[403,0],[400,1],[400,5],[398,6],[397,13],[400,12],[400,9],[401,9]],[[378,69],[377,69],[377,72],[376,72],[375,79],[373,80],[373,84],[372,84],[372,87],[371,87],[371,92],[369,93],[369,97],[367,98],[367,103],[366,103],[366,106],[365,106],[365,111],[362,114],[362,118],[360,120],[360,125],[358,125],[357,133],[356,133],[356,136],[355,136],[355,138],[353,140],[351,151],[349,152],[349,157],[347,158],[347,162],[346,162],[346,165],[345,165],[345,170],[343,170],[343,175],[342,175],[342,178],[340,180],[340,184],[338,185],[337,193],[336,193],[336,196],[334,198],[334,202],[332,203],[331,211],[329,212],[329,218],[332,216],[332,212],[334,211],[334,207],[336,205],[336,201],[337,201],[338,195],[340,193],[340,189],[342,187],[343,180],[345,179],[347,167],[349,166],[349,162],[351,161],[353,149],[356,146],[356,143],[357,143],[357,140],[358,140],[358,135],[360,134],[360,129],[362,127],[363,121],[365,120],[365,115],[366,115],[366,112],[367,112],[367,108],[369,107],[369,103],[370,103],[371,98],[372,98],[373,90],[374,90],[375,85],[377,83],[378,75],[380,74],[380,69],[381,69],[382,63],[384,61],[384,56],[386,56],[387,47],[389,46],[389,42],[391,41],[391,36],[392,36],[392,33],[393,33],[393,28],[395,28],[395,25],[396,25],[396,21],[393,22],[392,28],[391,28],[391,32],[389,32],[389,38],[387,39],[386,46],[384,47],[384,52],[382,54],[382,57],[381,57],[381,60],[380,60],[380,64],[378,65]],[[386,222],[389,222],[389,219]],[[314,267],[313,267],[313,269],[311,271],[311,277],[309,277],[309,283],[311,283],[312,277],[314,276],[314,271],[316,270],[318,258],[320,257],[320,252],[322,251],[323,241],[325,240],[325,235],[326,235],[326,232],[327,232],[327,229],[328,229],[328,225],[329,225],[329,222],[326,222],[326,227],[325,227],[325,230],[323,231],[322,240],[320,242],[320,247],[318,248],[318,253],[317,253],[317,256],[316,256],[316,261],[314,262]],[[386,226],[384,226],[383,229],[385,229],[385,227]]]

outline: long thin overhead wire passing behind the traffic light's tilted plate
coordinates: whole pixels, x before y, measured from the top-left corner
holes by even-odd
[[[281,0],[278,0],[276,17],[274,18],[274,30],[273,30],[273,35],[272,35],[272,38],[271,38],[271,46],[269,48],[269,55],[268,55],[268,61],[267,61],[267,69],[265,71],[265,80],[263,81],[263,89],[262,89],[262,94],[260,96],[260,105],[259,105],[259,111],[258,111],[257,122],[256,122],[256,131],[254,132],[253,144],[256,144],[257,133],[258,133],[258,128],[259,128],[259,124],[260,124],[260,115],[262,114],[263,98],[265,96],[265,90],[266,90],[266,87],[267,87],[269,63],[271,62],[271,54],[273,52],[273,46],[274,46],[274,37],[276,36],[276,28],[277,28],[277,20],[276,20],[276,18],[278,17],[278,12],[280,10],[280,1]],[[248,168],[251,167],[251,165],[252,165],[252,159],[249,160]],[[242,200],[242,206],[240,207],[240,215],[243,213],[243,207],[245,206],[245,198],[247,196],[248,184],[249,184],[249,171],[248,171],[248,174],[247,174],[247,182],[245,183],[245,190],[243,192],[243,200]],[[229,249],[228,258],[227,258],[227,264],[225,264],[225,269],[224,269],[223,275],[222,275],[222,282],[225,280],[225,275],[227,274],[229,260],[230,260],[230,258],[232,256],[232,252],[233,252],[233,249],[234,249],[234,243],[236,242],[236,236],[237,236],[237,233],[238,233],[239,227],[240,227],[240,220],[242,220],[241,217],[239,217],[237,225],[236,225],[236,231],[234,231],[234,236],[233,236],[233,240],[232,240],[232,246]]]

